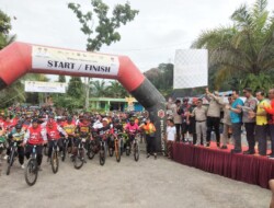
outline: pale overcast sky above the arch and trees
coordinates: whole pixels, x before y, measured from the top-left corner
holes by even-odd
[[[112,9],[126,0],[103,0]],[[87,11],[90,0],[0,0],[0,9],[12,19],[12,34],[19,42],[85,50],[87,37],[69,2]],[[229,16],[241,4],[254,0],[130,0],[139,14],[119,28],[121,42],[101,53],[126,55],[140,71],[174,61],[176,49],[190,48],[202,31],[231,25]],[[274,11],[274,0],[269,0]]]

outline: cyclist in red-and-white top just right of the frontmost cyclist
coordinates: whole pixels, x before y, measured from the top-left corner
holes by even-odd
[[[52,157],[54,141],[57,140],[57,145],[59,147],[59,151],[62,152],[62,139],[60,138],[60,134],[62,134],[66,139],[68,138],[67,132],[53,119],[49,118],[46,125],[46,135],[48,140],[48,159]]]

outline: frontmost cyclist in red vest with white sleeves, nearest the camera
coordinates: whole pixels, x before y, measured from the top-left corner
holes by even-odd
[[[37,164],[39,171],[41,169],[41,163],[43,159],[43,145],[47,142],[47,137],[45,134],[45,129],[41,127],[38,124],[38,119],[34,118],[32,122],[32,126],[30,126],[26,130],[26,134],[24,136],[24,142],[23,146],[26,146],[25,148],[25,157],[26,159],[30,159],[33,146],[36,146],[36,152],[37,152]]]

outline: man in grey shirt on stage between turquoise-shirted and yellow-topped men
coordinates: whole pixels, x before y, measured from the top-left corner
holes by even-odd
[[[247,97],[243,106],[238,106],[242,109],[242,122],[247,131],[247,140],[249,143],[249,150],[244,151],[244,154],[254,154],[255,153],[255,117],[250,117],[249,112],[254,112],[256,108],[256,99],[252,96],[252,90],[250,88],[243,89],[243,94]]]

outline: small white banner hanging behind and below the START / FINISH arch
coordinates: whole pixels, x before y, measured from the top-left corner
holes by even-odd
[[[25,92],[66,93],[67,83],[25,81]]]

